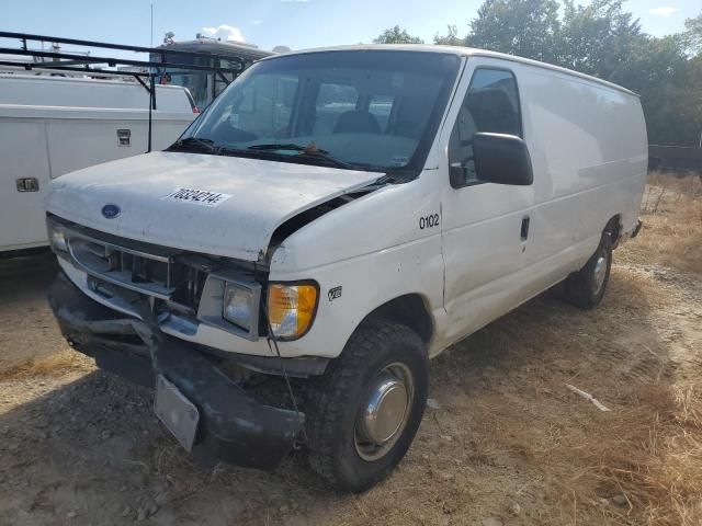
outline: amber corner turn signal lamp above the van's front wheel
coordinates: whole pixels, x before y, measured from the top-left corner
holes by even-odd
[[[295,340],[312,325],[317,311],[317,286],[312,283],[268,287],[268,319],[273,334],[281,340]]]

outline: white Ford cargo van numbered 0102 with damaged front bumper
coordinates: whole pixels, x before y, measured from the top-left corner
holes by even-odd
[[[602,299],[646,146],[634,93],[532,60],[267,58],[167,151],[54,183],[50,302],[194,455],[271,468],[297,444],[363,491],[410,446],[429,358],[561,282]]]

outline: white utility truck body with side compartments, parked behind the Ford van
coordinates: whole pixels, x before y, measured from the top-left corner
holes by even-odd
[[[195,117],[188,90],[157,88],[155,149]],[[149,95],[136,82],[0,73],[0,253],[47,244],[53,179],[147,151]]]

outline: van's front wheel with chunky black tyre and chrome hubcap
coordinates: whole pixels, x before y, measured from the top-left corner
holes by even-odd
[[[307,392],[308,458],[335,487],[362,492],[403,459],[429,384],[421,339],[392,321],[359,328]]]

